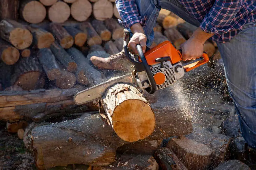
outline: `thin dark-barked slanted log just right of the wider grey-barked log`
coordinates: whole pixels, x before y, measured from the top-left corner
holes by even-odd
[[[51,52],[55,58],[64,66],[67,71],[74,73],[77,70],[76,62],[70,57],[65,49],[63,49],[58,42],[54,42],[50,46]]]

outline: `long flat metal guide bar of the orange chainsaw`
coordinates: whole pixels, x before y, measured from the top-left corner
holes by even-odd
[[[82,90],[78,93],[76,93],[73,97],[74,102],[77,105],[81,105],[96,99],[100,99],[104,93],[106,92],[106,90],[116,84],[116,83],[129,83],[129,84],[134,84],[133,81],[133,76],[131,73],[129,74],[125,74],[123,76],[114,78],[112,80],[103,82],[101,84],[89,87],[85,90]]]

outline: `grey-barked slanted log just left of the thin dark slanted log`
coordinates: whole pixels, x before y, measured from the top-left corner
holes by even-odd
[[[40,49],[38,58],[49,80],[56,80],[61,76],[61,70],[49,48]]]

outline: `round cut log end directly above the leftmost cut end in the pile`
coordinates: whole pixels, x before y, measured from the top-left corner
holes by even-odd
[[[33,42],[33,36],[27,29],[15,28],[10,32],[9,41],[18,49],[25,49]]]

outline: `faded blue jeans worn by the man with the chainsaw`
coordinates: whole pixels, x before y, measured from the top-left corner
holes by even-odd
[[[141,16],[147,15],[144,28],[147,47],[153,39],[153,28],[161,8],[172,11],[185,21],[199,26],[178,0],[135,0]],[[243,138],[256,148],[256,23],[247,23],[230,42],[217,43],[223,59],[229,93],[239,117]]]

